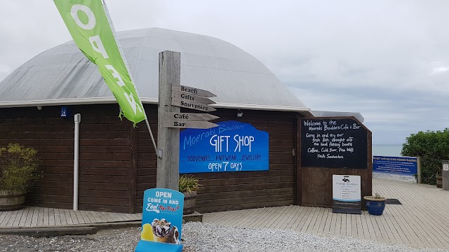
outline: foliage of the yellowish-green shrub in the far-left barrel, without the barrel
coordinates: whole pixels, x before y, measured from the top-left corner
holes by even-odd
[[[19,144],[0,148],[0,190],[24,193],[36,181],[37,151]]]

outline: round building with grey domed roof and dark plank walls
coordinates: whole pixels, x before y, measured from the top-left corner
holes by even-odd
[[[225,211],[297,204],[297,127],[314,113],[255,57],[210,36],[168,29],[117,32],[149,124],[157,130],[159,52],[181,55],[181,85],[209,90],[222,120],[269,134],[269,170],[200,173],[197,210]],[[237,117],[242,112],[243,116]],[[27,203],[71,209],[74,118],[79,133],[79,209],[140,212],[156,186],[156,153],[144,123],[119,118],[119,106],[97,66],[73,41],[46,50],[0,83],[0,145],[39,151],[42,177]],[[157,132],[154,132],[155,134]],[[300,197],[299,197],[300,198]]]

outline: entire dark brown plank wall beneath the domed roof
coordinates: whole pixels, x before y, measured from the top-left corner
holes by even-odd
[[[27,204],[72,209],[75,113],[81,113],[79,209],[140,212],[143,191],[156,186],[156,154],[145,123],[137,128],[118,117],[116,104],[0,109],[0,145],[10,142],[39,151],[41,179],[27,194]],[[146,105],[157,137],[157,106]],[[204,188],[201,212],[295,204],[297,113],[219,109],[221,120],[239,120],[269,133],[269,171],[194,174]]]

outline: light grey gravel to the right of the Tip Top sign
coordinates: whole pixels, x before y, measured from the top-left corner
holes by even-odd
[[[208,223],[186,223],[183,228],[183,244],[194,251],[445,251],[349,237],[319,237],[291,230],[253,230]]]

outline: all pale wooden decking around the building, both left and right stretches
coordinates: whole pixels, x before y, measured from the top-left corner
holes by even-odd
[[[405,244],[420,248],[449,248],[449,191],[436,186],[373,179],[373,193],[398,199],[382,216],[333,214],[321,207],[267,207],[204,214],[203,222],[244,228],[286,229]],[[72,211],[26,207],[0,212],[1,228],[66,226],[140,221],[142,214]]]

